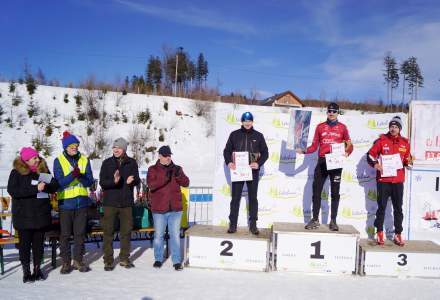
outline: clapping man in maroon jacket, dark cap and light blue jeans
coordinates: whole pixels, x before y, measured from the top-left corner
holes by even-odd
[[[162,146],[159,159],[148,168],[147,184],[150,188],[151,212],[154,220],[154,267],[160,268],[163,261],[165,229],[168,226],[171,260],[176,271],[182,270],[180,255],[180,222],[182,219],[182,192],[180,187],[189,186],[182,167],[171,160],[171,149]]]

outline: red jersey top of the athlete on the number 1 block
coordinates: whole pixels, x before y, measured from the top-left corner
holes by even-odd
[[[333,126],[330,126],[327,121],[322,122],[316,126],[312,145],[307,148],[306,154],[315,152],[319,145],[319,157],[325,157],[327,153],[331,152],[331,144],[343,142],[351,142],[347,126],[339,121]],[[351,143],[346,151],[349,155],[353,152]]]

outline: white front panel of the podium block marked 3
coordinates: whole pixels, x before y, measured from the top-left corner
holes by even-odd
[[[440,278],[439,253],[365,252],[365,275]]]

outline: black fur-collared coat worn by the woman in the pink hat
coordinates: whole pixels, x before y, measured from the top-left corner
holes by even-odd
[[[35,173],[19,157],[14,160],[14,168],[8,180],[8,193],[12,197],[12,223],[18,230],[42,229],[52,222],[49,198],[37,198],[40,173],[49,173],[44,159],[41,159]],[[57,189],[58,182],[52,178],[44,192],[55,193]]]

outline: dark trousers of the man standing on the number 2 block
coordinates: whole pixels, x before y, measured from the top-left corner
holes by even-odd
[[[249,198],[249,222],[256,222],[258,220],[258,179],[259,172],[252,171],[251,181],[246,181]],[[232,225],[237,225],[238,211],[240,209],[241,193],[243,191],[245,181],[232,182],[232,200],[230,205],[229,222]]]

